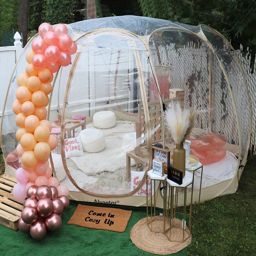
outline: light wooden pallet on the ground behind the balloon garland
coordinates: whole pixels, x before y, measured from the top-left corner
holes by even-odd
[[[18,221],[23,210],[24,200],[13,196],[13,187],[17,183],[14,177],[0,176],[0,224],[17,231]]]

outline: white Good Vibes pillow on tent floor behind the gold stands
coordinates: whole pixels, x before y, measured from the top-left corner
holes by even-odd
[[[137,186],[141,183],[142,178],[145,174],[145,171],[131,171],[131,191],[135,190]],[[147,182],[147,185],[146,185]],[[158,182],[155,183],[158,186]],[[147,194],[146,194],[147,191]],[[154,191],[154,182],[152,182],[152,192]],[[146,178],[144,185],[142,186],[137,193],[133,194],[140,197],[151,197],[151,189],[150,189],[150,179]]]

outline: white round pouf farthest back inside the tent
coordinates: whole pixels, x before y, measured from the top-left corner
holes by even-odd
[[[115,114],[112,111],[99,111],[93,115],[93,125],[96,128],[107,129],[115,126]]]

